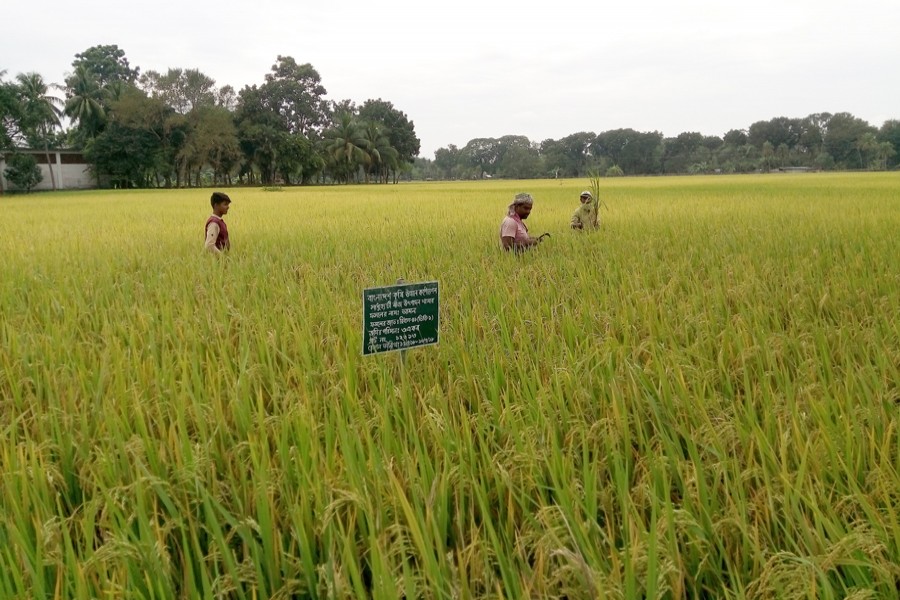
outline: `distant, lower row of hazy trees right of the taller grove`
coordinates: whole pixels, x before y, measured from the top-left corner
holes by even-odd
[[[525,136],[478,138],[462,148],[435,152],[418,162],[426,178],[585,177],[751,173],[785,168],[895,169],[900,162],[900,120],[875,128],[850,113],[758,121],[723,137],[686,132],[615,129],[574,133],[540,143]]]

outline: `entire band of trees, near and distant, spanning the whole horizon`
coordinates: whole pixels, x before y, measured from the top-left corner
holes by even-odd
[[[328,101],[315,68],[290,56],[278,56],[261,85],[239,92],[196,69],[141,73],[115,45],[76,54],[72,68],[64,85],[37,73],[6,81],[0,71],[0,150],[28,147],[46,152],[48,162],[51,149],[80,150],[100,186],[886,170],[900,163],[900,120],[876,128],[846,112],[777,117],[722,137],[615,129],[540,143],[476,138],[428,160],[418,158],[413,122],[391,102]],[[39,176],[30,155],[14,153],[7,163],[26,182],[29,173]]]

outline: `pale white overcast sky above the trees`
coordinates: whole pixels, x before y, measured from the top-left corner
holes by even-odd
[[[329,100],[392,102],[426,158],[477,137],[900,119],[900,0],[7,0],[0,16],[6,80],[63,83],[75,54],[116,44],[142,72],[240,91],[281,54]]]

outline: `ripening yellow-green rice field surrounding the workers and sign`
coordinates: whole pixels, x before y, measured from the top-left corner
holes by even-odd
[[[0,196],[0,598],[896,597],[900,177],[602,186]]]

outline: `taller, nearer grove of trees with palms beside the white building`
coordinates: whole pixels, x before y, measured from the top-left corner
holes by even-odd
[[[0,150],[13,152],[14,171],[34,162],[18,148],[48,162],[51,149],[72,148],[100,186],[387,183],[419,154],[413,122],[391,102],[327,101],[315,68],[290,56],[239,92],[196,69],[141,73],[116,45],[76,54],[72,67],[65,85],[0,71]]]

